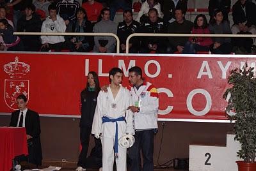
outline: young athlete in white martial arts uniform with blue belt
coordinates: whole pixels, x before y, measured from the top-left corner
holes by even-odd
[[[102,141],[102,170],[112,171],[114,152],[116,170],[126,171],[126,148],[118,144],[118,138],[126,133],[134,134],[133,114],[127,108],[131,105],[129,90],[122,87],[123,71],[112,68],[109,71],[108,92],[100,91],[93,117],[92,134]],[[115,147],[115,150],[114,148]]]

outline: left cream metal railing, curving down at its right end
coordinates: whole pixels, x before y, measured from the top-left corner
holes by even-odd
[[[39,35],[39,36],[113,36],[116,39],[116,53],[120,52],[120,40],[113,33],[41,33],[41,32],[14,32],[15,35]]]

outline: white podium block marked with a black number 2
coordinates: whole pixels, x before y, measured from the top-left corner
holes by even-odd
[[[237,171],[235,135],[227,135],[227,146],[189,145],[189,171]]]

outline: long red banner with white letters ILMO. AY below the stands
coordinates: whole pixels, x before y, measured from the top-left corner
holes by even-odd
[[[17,108],[20,93],[29,98],[29,108],[40,114],[75,117],[79,95],[88,71],[99,73],[100,85],[108,84],[108,71],[118,66],[125,73],[140,66],[143,77],[159,91],[159,118],[226,120],[230,70],[245,62],[254,66],[253,56],[121,56],[94,54],[0,54],[0,113]],[[178,120],[177,120],[178,121]]]

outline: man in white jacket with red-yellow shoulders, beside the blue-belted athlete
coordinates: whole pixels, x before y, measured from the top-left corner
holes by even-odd
[[[135,142],[129,149],[131,170],[141,170],[140,151],[143,156],[143,171],[153,171],[154,132],[157,130],[158,93],[156,87],[142,78],[141,68],[129,69],[132,105],[128,108],[134,113]]]

